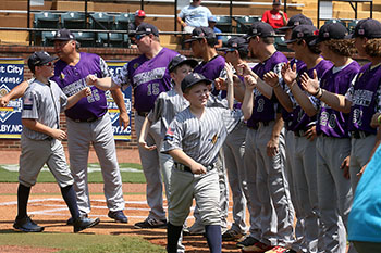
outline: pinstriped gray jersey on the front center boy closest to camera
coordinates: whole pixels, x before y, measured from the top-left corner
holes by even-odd
[[[206,107],[201,118],[190,107],[180,112],[167,130],[162,152],[183,150],[194,161],[207,166],[216,162],[229,132],[241,122],[242,111]]]

